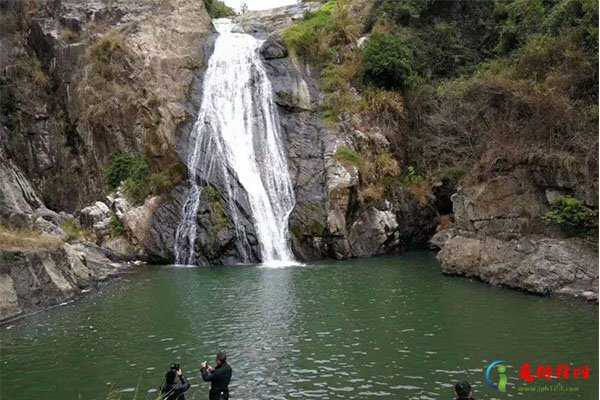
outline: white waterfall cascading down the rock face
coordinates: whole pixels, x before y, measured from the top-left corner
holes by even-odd
[[[293,261],[288,217],[295,199],[273,100],[273,89],[258,54],[261,41],[235,33],[229,19],[214,20],[219,33],[208,62],[198,119],[187,160],[191,189],[177,229],[175,258],[193,264],[196,216],[207,182],[220,176],[230,199],[239,182],[252,211],[263,263]],[[229,208],[239,253],[248,261],[247,235],[237,207]]]

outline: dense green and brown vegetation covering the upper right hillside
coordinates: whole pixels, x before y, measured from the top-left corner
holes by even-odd
[[[360,40],[332,40],[338,9]],[[597,20],[593,0],[338,0],[283,37],[321,68],[325,121],[381,127],[404,171],[528,166],[597,185]]]

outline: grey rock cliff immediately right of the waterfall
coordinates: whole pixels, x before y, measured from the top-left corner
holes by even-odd
[[[400,186],[382,199],[361,201],[357,167],[338,157],[341,148],[353,148],[377,158],[389,148],[387,139],[356,119],[326,126],[321,71],[290,54],[281,39],[282,29],[319,7],[304,3],[238,17],[247,33],[264,39],[261,55],[275,90],[296,194],[293,250],[301,260],[344,259],[425,246],[435,229],[433,208]]]

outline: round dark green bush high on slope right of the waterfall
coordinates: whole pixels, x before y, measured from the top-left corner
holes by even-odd
[[[415,83],[412,58],[412,52],[402,38],[373,33],[363,50],[361,79],[365,85],[381,89],[409,88]]]

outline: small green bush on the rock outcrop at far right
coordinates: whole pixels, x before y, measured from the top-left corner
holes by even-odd
[[[582,234],[598,227],[598,211],[572,197],[559,197],[543,217],[547,225],[556,224],[571,234]]]

